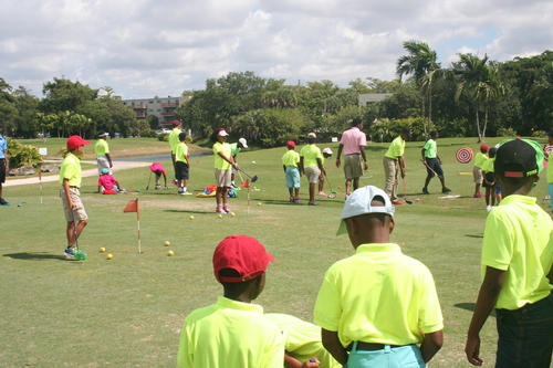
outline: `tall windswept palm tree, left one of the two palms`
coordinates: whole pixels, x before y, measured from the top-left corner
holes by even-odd
[[[438,54],[431,50],[428,43],[420,41],[406,41],[404,49],[409,53],[400,56],[396,63],[396,73],[401,80],[403,75],[411,74],[415,77],[416,84],[422,92],[422,116],[425,115],[425,101],[428,99],[428,124],[431,125],[431,99],[432,99],[432,81],[441,75],[435,73],[440,70],[438,63]],[[426,126],[425,126],[426,135]]]

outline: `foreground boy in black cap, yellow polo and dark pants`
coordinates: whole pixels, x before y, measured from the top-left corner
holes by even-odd
[[[503,200],[488,214],[482,285],[465,353],[481,366],[480,329],[495,308],[498,368],[550,368],[553,353],[553,222],[528,193],[540,179],[543,151],[533,140],[503,140],[494,161]]]

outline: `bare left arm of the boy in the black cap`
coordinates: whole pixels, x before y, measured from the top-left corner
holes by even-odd
[[[477,305],[470,322],[467,345],[465,346],[467,359],[473,366],[481,366],[483,362],[483,360],[480,359],[480,329],[482,329],[486,319],[488,319],[488,316],[498,301],[499,293],[505,281],[505,275],[507,271],[490,266],[486,267],[486,276],[480,286],[480,292],[478,293]]]

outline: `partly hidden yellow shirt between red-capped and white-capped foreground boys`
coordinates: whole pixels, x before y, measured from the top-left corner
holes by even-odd
[[[321,327],[289,314],[267,313],[265,317],[279,326],[289,355],[301,362],[317,357],[321,367],[342,368],[342,365],[323,347]]]

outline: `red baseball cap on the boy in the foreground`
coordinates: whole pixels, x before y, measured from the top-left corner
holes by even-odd
[[[215,277],[220,282],[241,283],[263,274],[274,256],[267,252],[263,244],[248,235],[230,235],[217,245],[213,253]],[[219,271],[232,269],[239,277],[222,277]]]

